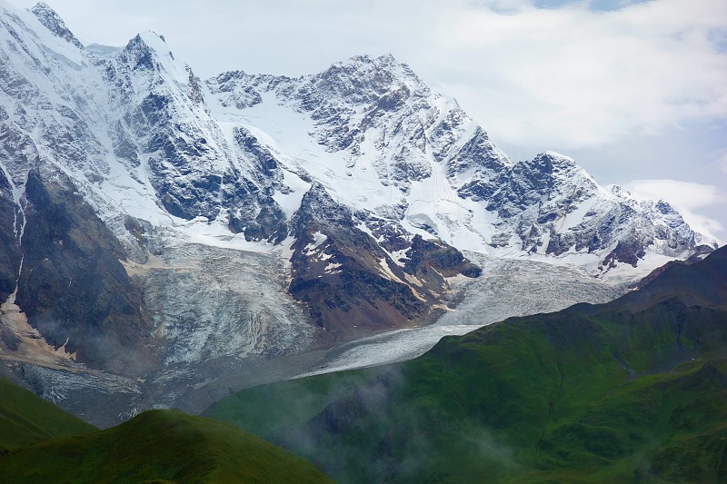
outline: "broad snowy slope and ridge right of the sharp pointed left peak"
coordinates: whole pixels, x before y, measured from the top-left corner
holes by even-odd
[[[603,188],[567,156],[512,163],[390,55],[298,79],[233,72],[206,84],[215,117],[244,124],[284,169],[409,233],[474,252],[547,254],[593,272],[713,245],[666,202]]]

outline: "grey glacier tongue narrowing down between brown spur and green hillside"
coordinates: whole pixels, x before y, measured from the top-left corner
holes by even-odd
[[[466,334],[513,316],[560,311],[578,302],[612,301],[628,284],[628,279],[604,282],[578,268],[547,262],[467,255],[483,267],[483,275],[459,282],[464,297],[456,309],[430,326],[384,332],[344,345],[332,351],[324,365],[295,378],[411,360],[443,336]]]

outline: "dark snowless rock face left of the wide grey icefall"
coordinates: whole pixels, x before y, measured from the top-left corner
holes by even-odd
[[[55,347],[126,374],[156,366],[142,292],[122,245],[60,173],[29,173],[17,304]]]

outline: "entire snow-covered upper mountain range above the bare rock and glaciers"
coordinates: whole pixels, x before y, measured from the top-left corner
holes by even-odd
[[[21,185],[33,163],[55,164],[105,220],[204,217],[278,243],[316,181],[363,220],[476,252],[633,264],[703,242],[665,202],[604,189],[566,156],[512,163],[391,55],[202,83],[158,35],[101,55],[47,5],[4,12],[5,169]]]

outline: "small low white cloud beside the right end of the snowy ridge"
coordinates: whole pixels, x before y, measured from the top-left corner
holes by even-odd
[[[716,186],[676,180],[633,180],[624,188],[637,199],[669,202],[693,230],[720,241],[718,235],[724,231],[724,226],[702,213],[705,208],[721,207],[727,202],[727,197]]]

